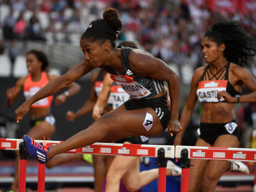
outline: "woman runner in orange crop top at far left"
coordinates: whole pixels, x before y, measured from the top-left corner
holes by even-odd
[[[18,79],[16,85],[6,91],[6,104],[11,107],[17,99],[19,93],[23,89],[25,98],[28,99],[33,96],[37,91],[44,87],[47,83],[57,78],[56,75],[47,74],[44,70],[48,67],[48,60],[46,55],[42,51],[31,50],[27,53],[27,69],[29,75]],[[66,99],[72,95],[77,94],[81,87],[77,83],[71,83],[63,94],[58,95],[55,99],[55,104],[59,105],[66,101]],[[50,140],[51,135],[55,132],[55,119],[50,114],[50,106],[53,100],[53,96],[41,99],[35,102],[30,107],[30,130],[27,133],[33,139]],[[17,151],[17,155],[18,155]],[[19,158],[17,157],[16,167],[19,167]],[[11,186],[13,191],[17,191],[18,188],[19,169],[16,169],[14,182]]]

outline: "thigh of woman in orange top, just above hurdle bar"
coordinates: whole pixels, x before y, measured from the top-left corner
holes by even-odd
[[[55,126],[50,125],[46,121],[42,121],[39,125],[34,125],[27,135],[35,140],[43,140],[45,137],[45,140],[50,140],[50,137],[55,132]]]

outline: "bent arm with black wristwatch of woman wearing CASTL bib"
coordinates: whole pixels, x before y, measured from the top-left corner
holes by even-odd
[[[232,72],[239,79],[239,81],[241,81],[248,89],[252,91],[252,93],[250,94],[241,95],[240,102],[255,103],[256,102],[256,79],[253,78],[253,76],[249,71],[247,71],[246,69],[240,66],[237,66],[235,69],[233,69]],[[230,103],[238,102],[237,97],[232,97],[226,91],[218,92],[217,97],[219,100],[221,99],[221,97],[223,97],[225,101]]]

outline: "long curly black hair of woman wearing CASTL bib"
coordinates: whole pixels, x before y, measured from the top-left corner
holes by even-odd
[[[256,39],[250,37],[239,21],[219,21],[204,37],[219,45],[225,44],[224,56],[227,61],[241,67],[250,66],[249,58],[256,54]]]

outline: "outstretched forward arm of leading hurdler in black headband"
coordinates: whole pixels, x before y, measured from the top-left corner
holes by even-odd
[[[75,65],[72,69],[70,69],[66,74],[54,79],[42,89],[40,89],[36,94],[27,99],[16,111],[16,121],[19,122],[23,119],[23,117],[29,112],[29,107],[33,105],[33,103],[54,95],[59,91],[63,90],[70,83],[73,83],[75,80],[83,77],[83,75],[89,73],[94,68],[90,66],[87,61],[83,61]]]

